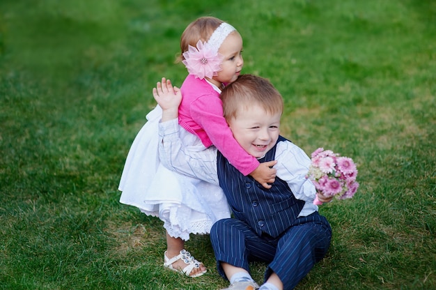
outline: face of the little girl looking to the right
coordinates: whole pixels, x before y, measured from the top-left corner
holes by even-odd
[[[235,82],[240,75],[242,66],[244,66],[244,59],[242,59],[242,37],[238,31],[233,31],[226,37],[218,52],[224,56],[221,62],[221,70],[218,72],[218,75],[208,80],[220,88],[222,83]]]

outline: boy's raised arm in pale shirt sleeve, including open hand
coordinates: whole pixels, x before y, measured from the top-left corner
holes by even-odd
[[[162,107],[162,122],[159,123],[159,159],[164,167],[186,176],[219,184],[217,174],[217,150],[215,147],[203,151],[187,151],[179,137],[178,106],[182,100],[180,89],[171,86],[162,78],[157,83],[153,97]]]

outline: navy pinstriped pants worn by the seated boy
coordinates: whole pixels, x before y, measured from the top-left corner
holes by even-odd
[[[277,238],[258,236],[248,224],[234,218],[219,220],[210,230],[219,274],[226,278],[220,261],[249,271],[249,261],[270,263],[265,281],[276,273],[284,289],[293,289],[320,261],[330,245],[332,229],[318,212],[299,217]]]

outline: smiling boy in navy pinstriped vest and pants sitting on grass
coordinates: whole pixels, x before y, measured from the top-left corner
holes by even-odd
[[[173,91],[174,90],[174,91]],[[257,289],[249,261],[270,263],[260,290],[293,289],[325,256],[332,229],[313,204],[316,190],[306,179],[310,159],[279,136],[283,99],[266,79],[242,75],[221,93],[224,117],[233,136],[260,162],[277,160],[277,178],[265,189],[243,176],[216,148],[185,151],[178,138],[180,91],[158,86],[153,96],[163,109],[159,134],[161,162],[171,170],[219,184],[235,218],[216,222],[210,231],[218,271],[227,289]],[[318,193],[318,199],[327,202]]]

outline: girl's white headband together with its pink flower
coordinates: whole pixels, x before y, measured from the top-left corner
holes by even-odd
[[[202,43],[201,40],[198,40],[196,47],[189,45],[187,52],[183,52],[185,60],[182,61],[189,75],[195,75],[199,79],[212,78],[214,75],[218,75],[223,60],[223,56],[218,53],[218,49],[228,34],[235,30],[233,26],[223,22],[215,29],[208,42]]]

